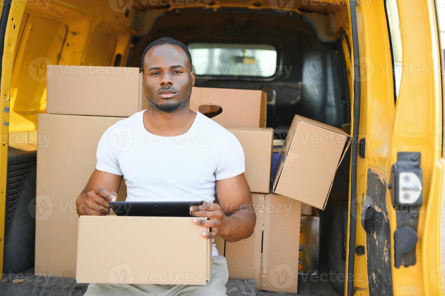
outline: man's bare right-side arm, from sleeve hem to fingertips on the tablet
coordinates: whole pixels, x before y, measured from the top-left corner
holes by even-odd
[[[217,180],[216,195],[219,204],[204,203],[202,206],[190,207],[193,216],[209,218],[194,222],[203,227],[210,227],[210,232],[203,232],[202,235],[206,238],[220,235],[228,242],[236,242],[251,236],[255,228],[256,215],[244,174]]]

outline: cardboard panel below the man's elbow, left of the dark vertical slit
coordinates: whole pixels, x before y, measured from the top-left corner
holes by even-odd
[[[254,233],[238,242],[226,242],[226,260],[231,279],[256,280],[256,289],[261,288],[261,242],[263,236],[264,195],[252,193],[256,214]]]

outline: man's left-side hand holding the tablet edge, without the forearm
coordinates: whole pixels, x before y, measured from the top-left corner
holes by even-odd
[[[110,211],[108,202],[115,202],[117,193],[115,191],[106,191],[101,186],[94,186],[91,191],[86,193],[85,214],[104,216]]]

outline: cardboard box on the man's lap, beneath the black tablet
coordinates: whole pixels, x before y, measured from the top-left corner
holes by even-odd
[[[212,241],[192,219],[81,216],[77,283],[206,284]]]

